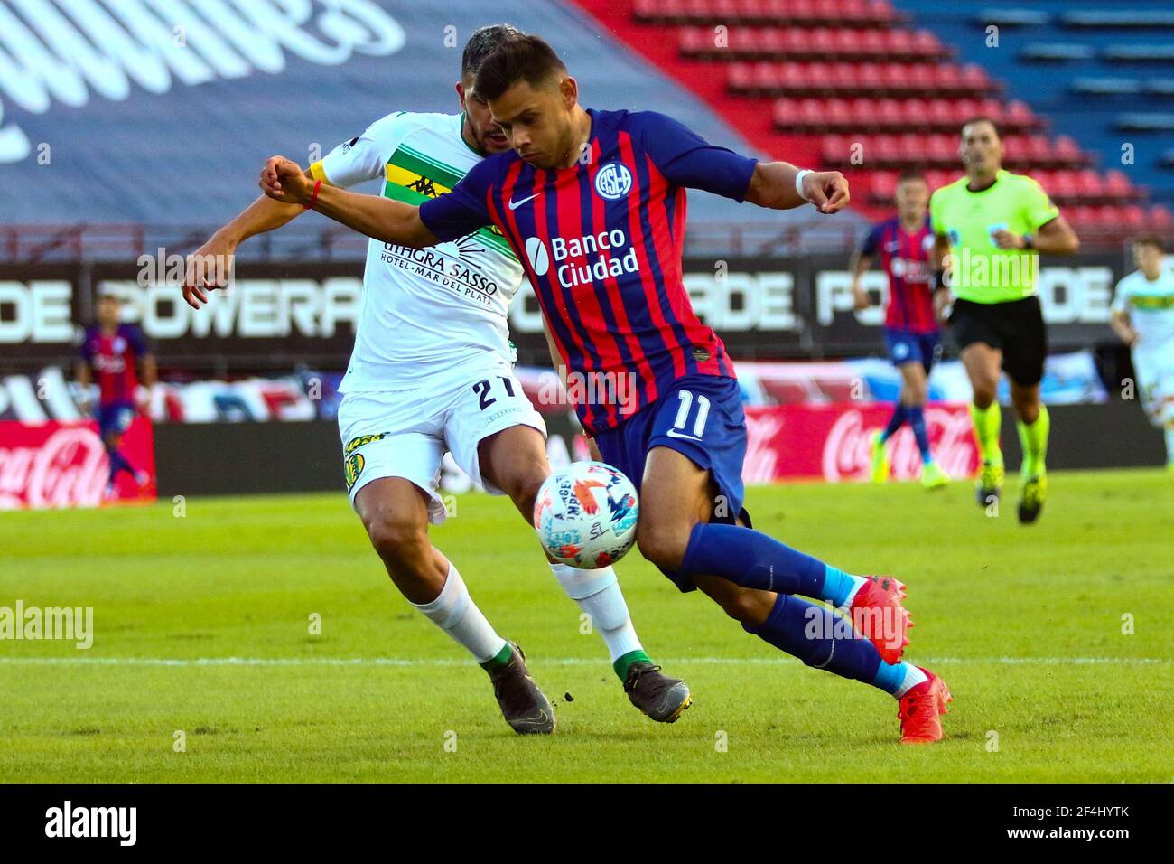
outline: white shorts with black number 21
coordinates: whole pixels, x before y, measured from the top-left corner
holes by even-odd
[[[351,507],[372,480],[403,477],[429,494],[429,521],[440,524],[447,515],[439,494],[445,451],[473,482],[501,495],[481,476],[477,447],[512,426],[533,427],[546,437],[542,415],[505,361],[458,364],[414,380],[411,389],[345,394],[338,431]]]

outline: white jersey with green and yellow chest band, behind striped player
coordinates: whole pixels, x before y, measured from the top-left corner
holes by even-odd
[[[419,205],[481,161],[465,143],[463,123],[464,114],[389,114],[310,172],[342,187],[379,179],[385,197]],[[429,249],[371,240],[355,350],[339,391],[407,388],[478,354],[510,362],[507,310],[521,279],[521,264],[494,229]]]

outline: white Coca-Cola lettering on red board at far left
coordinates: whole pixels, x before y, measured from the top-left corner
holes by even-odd
[[[88,427],[62,427],[38,447],[0,447],[0,509],[96,505],[107,470]]]

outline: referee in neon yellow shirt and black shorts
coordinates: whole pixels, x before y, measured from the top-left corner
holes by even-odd
[[[1003,490],[1000,371],[1011,380],[1024,450],[1019,521],[1027,524],[1039,518],[1047,496],[1051,428],[1039,397],[1047,356],[1035,295],[1039,253],[1070,255],[1080,241],[1038,182],[1003,168],[1003,136],[993,120],[963,126],[960,153],[966,175],[930,197],[933,304],[942,321],[953,306],[949,321],[974,390],[970,414],[983,462],[976,484],[980,507],[998,502]]]

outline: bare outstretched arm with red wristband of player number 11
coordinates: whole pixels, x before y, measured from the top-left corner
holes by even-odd
[[[275,201],[309,207],[385,243],[423,249],[440,242],[420,220],[419,207],[315,182],[301,166],[284,156],[265,162],[259,186]]]

